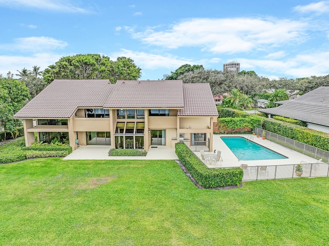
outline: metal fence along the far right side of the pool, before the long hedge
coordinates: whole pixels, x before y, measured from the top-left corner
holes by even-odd
[[[255,127],[255,133],[262,136],[263,129]],[[270,131],[265,130],[266,133],[266,139],[270,140],[272,142],[275,142],[277,144],[280,144],[282,146],[285,146],[287,148],[293,149],[299,153],[302,153],[306,156],[312,157],[314,159],[322,159],[323,162],[329,161],[329,152],[326,150],[310,146],[308,144],[298,142],[294,139],[286,138],[281,135],[271,133]]]

